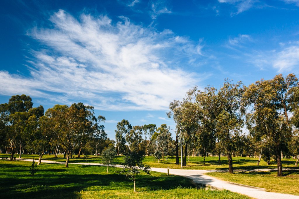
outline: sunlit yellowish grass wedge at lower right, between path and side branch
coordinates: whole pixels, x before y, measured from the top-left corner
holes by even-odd
[[[265,188],[268,192],[299,195],[299,171],[284,171],[283,177],[277,177],[277,172],[239,172],[234,174],[212,172],[207,175],[225,181]]]

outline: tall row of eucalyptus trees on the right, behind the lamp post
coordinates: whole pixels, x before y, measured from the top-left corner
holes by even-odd
[[[226,155],[229,172],[233,173],[232,155],[258,153],[259,161],[276,160],[277,176],[282,176],[283,154],[297,157],[297,166],[298,86],[294,74],[286,77],[280,74],[248,87],[241,81],[233,83],[226,79],[219,90],[212,86],[190,89],[182,101],[170,103],[167,113],[176,122],[177,132],[183,129],[183,164],[186,165],[190,153],[204,157],[218,154],[219,163],[220,156]]]

